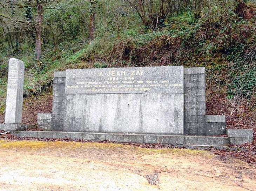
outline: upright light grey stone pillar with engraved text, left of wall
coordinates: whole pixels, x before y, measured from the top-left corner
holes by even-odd
[[[24,62],[9,60],[5,123],[21,123],[23,102]]]

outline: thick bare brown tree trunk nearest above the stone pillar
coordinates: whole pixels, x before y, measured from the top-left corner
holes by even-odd
[[[43,23],[43,5],[38,2],[37,6],[37,15],[36,15],[36,24],[35,24],[35,53],[36,60],[40,60],[42,54],[42,23]]]

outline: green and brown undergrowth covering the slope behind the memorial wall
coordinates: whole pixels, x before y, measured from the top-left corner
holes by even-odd
[[[53,72],[67,68],[183,65],[206,67],[208,94],[225,94],[238,102],[246,99],[248,107],[255,110],[255,19],[246,20],[234,10],[214,7],[211,15],[201,19],[189,11],[170,17],[155,31],[134,21],[121,32],[115,25],[99,28],[90,43],[81,35],[58,45],[45,44],[38,63],[33,51],[0,52],[0,112],[4,111],[10,57],[25,62],[25,96],[50,91]]]

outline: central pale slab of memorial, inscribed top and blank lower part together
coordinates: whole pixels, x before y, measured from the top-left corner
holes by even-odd
[[[183,66],[67,70],[65,111],[53,112],[65,113],[63,131],[183,134],[183,76]]]

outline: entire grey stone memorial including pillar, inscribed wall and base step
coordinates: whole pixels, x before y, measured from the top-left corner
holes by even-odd
[[[54,73],[52,113],[38,128],[21,124],[24,63],[9,60],[5,124],[36,138],[110,140],[183,146],[252,142],[252,130],[227,130],[225,116],[206,116],[204,68],[183,66],[68,69]],[[206,135],[206,136],[194,136]]]

